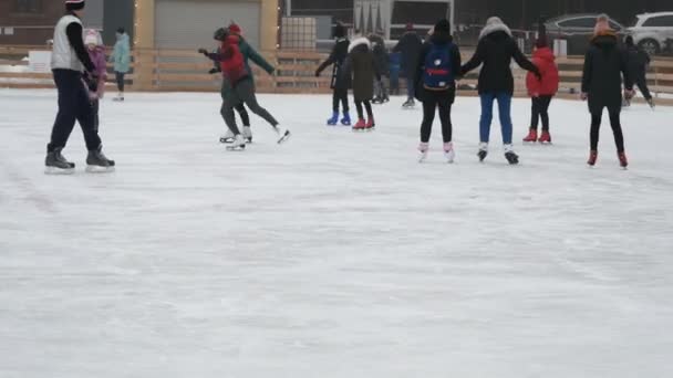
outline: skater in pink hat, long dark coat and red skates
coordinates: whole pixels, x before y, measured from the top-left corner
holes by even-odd
[[[608,15],[599,15],[591,45],[584,56],[582,73],[581,98],[589,101],[589,112],[591,113],[589,166],[594,166],[598,159],[599,132],[605,107],[610,116],[620,165],[623,168],[629,166],[620,120],[622,75],[625,96],[633,95],[633,82],[628,64],[628,56],[618,45],[617,33],[610,28]]]

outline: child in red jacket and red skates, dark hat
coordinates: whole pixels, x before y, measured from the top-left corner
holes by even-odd
[[[553,98],[559,91],[559,70],[556,65],[553,51],[549,49],[547,30],[543,22],[540,22],[538,39],[535,43],[535,51],[532,52],[532,64],[540,71],[542,80],[538,80],[535,74],[530,72],[526,77],[526,86],[528,88],[528,95],[532,101],[532,106],[530,129],[528,136],[524,138],[524,141],[538,141],[538,124],[541,118],[542,134],[540,135],[539,141],[551,143],[551,135],[549,134],[549,104],[551,103],[551,98]]]

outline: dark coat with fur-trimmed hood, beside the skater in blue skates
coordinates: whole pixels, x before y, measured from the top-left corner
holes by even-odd
[[[353,78],[353,97],[355,101],[370,101],[374,97],[374,78],[380,80],[370,41],[359,38],[349,46],[349,57],[344,64],[344,74]]]

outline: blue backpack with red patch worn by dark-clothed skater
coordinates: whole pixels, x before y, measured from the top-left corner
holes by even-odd
[[[456,80],[452,65],[454,44],[431,43],[423,66],[423,86],[431,91],[444,91],[454,85]]]

